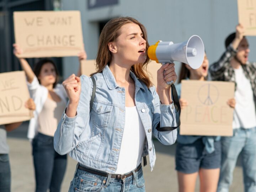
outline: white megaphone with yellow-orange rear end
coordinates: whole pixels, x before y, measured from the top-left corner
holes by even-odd
[[[166,64],[179,61],[188,64],[192,69],[198,69],[204,59],[204,44],[197,35],[191,36],[183,43],[158,41],[148,48],[148,56],[156,63]]]

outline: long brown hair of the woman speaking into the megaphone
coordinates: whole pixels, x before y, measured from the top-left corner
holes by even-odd
[[[146,28],[135,18],[132,17],[117,17],[108,21],[106,25],[103,27],[99,45],[98,52],[96,57],[96,72],[92,73],[92,75],[96,73],[101,73],[105,66],[111,62],[112,54],[108,49],[108,43],[116,41],[116,39],[121,34],[120,28],[127,23],[135,23],[137,24],[143,33],[143,38],[146,40],[146,50],[149,48]],[[152,82],[149,79],[149,76],[146,72],[146,66],[149,63],[149,57],[146,55],[146,60],[144,63],[138,63],[132,66],[131,71],[136,75],[136,77],[142,80],[146,86],[149,88],[152,86]]]

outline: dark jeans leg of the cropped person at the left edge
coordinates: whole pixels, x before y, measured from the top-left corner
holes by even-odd
[[[0,154],[0,191],[11,191],[11,169],[8,154]]]

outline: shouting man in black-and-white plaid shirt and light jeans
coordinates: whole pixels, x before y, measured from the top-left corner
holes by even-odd
[[[245,192],[256,192],[256,63],[248,62],[249,44],[242,25],[225,41],[226,51],[209,68],[212,80],[233,81],[235,110],[233,137],[222,137],[222,167],[218,192],[228,192],[241,153]]]

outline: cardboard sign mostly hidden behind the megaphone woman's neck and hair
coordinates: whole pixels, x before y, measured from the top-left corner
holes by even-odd
[[[81,62],[82,75],[90,76],[90,74],[96,72],[95,60],[82,60]],[[149,78],[155,86],[157,86],[157,71],[161,66],[161,64],[156,63],[155,61],[151,61],[147,66]]]

